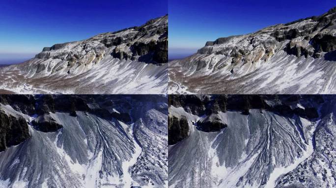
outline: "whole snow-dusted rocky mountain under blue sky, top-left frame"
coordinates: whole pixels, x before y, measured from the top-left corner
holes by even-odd
[[[44,47],[0,68],[0,93],[166,94],[168,15],[139,27]]]

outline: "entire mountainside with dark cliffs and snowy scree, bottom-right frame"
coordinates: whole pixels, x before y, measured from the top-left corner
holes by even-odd
[[[336,187],[336,95],[169,95],[169,188]]]

